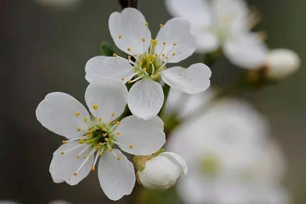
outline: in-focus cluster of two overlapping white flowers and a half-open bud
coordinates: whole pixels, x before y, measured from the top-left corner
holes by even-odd
[[[156,39],[151,39],[148,23],[138,10],[112,13],[110,33],[128,56],[98,56],[87,62],[85,78],[90,84],[85,101],[89,112],[62,92],[47,94],[38,105],[38,121],[66,138],[54,152],[49,168],[55,183],[76,185],[98,166],[101,188],[110,199],[118,200],[131,194],[136,177],[147,188],[167,189],[187,174],[181,156],[161,149],[164,123],[157,114],[164,104],[162,85],[199,93],[210,86],[211,71],[202,63],[166,68],[167,63],[192,55],[196,43],[187,20],[173,18],[160,27]],[[130,91],[125,83],[133,84]],[[133,115],[122,115],[126,104]],[[120,116],[126,117],[119,121]],[[133,163],[119,148],[136,156],[137,176]]]

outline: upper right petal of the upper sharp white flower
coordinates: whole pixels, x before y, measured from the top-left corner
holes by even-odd
[[[155,53],[160,54],[163,52],[168,55],[169,63],[180,62],[188,58],[196,49],[196,39],[190,32],[190,23],[183,18],[172,18],[168,20],[158,32],[156,40],[158,43],[155,48]],[[164,41],[166,45],[163,49]],[[173,43],[176,43],[176,45],[172,49]],[[175,56],[172,57],[173,52]]]

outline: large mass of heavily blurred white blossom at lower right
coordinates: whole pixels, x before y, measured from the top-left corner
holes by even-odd
[[[189,166],[177,185],[180,197],[195,204],[287,203],[279,187],[283,158],[275,144],[267,143],[268,135],[265,118],[235,99],[214,104],[175,130],[167,148]]]

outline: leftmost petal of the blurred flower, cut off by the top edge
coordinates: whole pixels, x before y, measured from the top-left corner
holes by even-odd
[[[166,7],[170,14],[182,17],[197,27],[210,23],[209,8],[207,2],[202,0],[167,0]]]

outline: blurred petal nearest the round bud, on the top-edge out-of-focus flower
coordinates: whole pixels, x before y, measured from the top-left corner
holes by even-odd
[[[223,52],[233,64],[252,69],[264,64],[267,48],[259,36],[249,33],[228,39]]]

